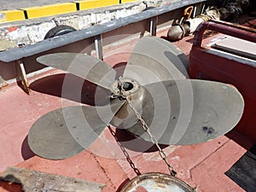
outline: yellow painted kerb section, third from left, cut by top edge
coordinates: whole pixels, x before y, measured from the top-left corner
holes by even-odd
[[[119,0],[84,0],[84,1],[77,1],[79,3],[80,10],[84,9],[94,9],[94,8],[101,8],[106,7],[109,5],[119,4]]]

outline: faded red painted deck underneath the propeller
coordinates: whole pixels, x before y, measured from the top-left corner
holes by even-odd
[[[166,35],[166,32],[159,35]],[[184,38],[176,44],[188,55],[192,37]],[[132,45],[126,44],[118,52],[131,50]],[[109,51],[108,55],[105,61],[112,66],[125,62],[128,56],[116,54],[116,51]],[[50,73],[38,75],[36,79],[29,79],[32,84],[30,96],[27,96],[16,84],[0,90],[0,172],[3,172],[7,166],[19,166],[103,183],[106,185],[102,190],[104,192],[119,191],[125,182],[136,177],[137,174],[125,159],[123,151],[108,129],[88,150],[67,160],[45,160],[32,154],[28,148],[26,136],[33,122],[44,113],[61,108],[59,96],[62,78],[61,71],[51,70]],[[88,85],[90,86],[86,89],[90,92],[93,86]],[[44,86],[50,91],[42,91]],[[91,99],[90,96],[88,99]],[[199,192],[242,192],[244,190],[225,176],[224,172],[227,172],[252,145],[253,142],[237,131],[230,131],[227,136],[208,143],[170,146],[164,148],[164,151],[177,171],[177,177],[192,187],[198,187]],[[132,144],[125,150],[141,173],[168,173],[157,151],[137,152],[136,145]],[[0,192],[6,191],[20,191],[20,186],[0,182]]]

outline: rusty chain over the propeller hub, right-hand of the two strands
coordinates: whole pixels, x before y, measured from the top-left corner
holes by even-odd
[[[134,105],[131,102],[131,99],[129,98],[129,96],[124,96],[125,93],[125,89],[124,89],[124,84],[122,82],[121,77],[119,77],[119,84],[120,84],[120,90],[121,90],[121,95],[123,96],[123,98],[126,99],[126,101],[129,103],[131,109],[134,111],[134,113],[137,116],[137,119],[139,119],[139,121],[141,122],[142,126],[143,126],[143,130],[146,131],[148,133],[148,136],[150,137],[150,140],[154,143],[154,145],[158,148],[160,157],[162,158],[162,160],[165,161],[166,166],[169,169],[169,172],[172,176],[176,176],[177,172],[174,171],[173,166],[171,166],[171,164],[168,162],[167,160],[167,156],[166,153],[162,150],[162,148],[160,148],[159,143],[157,142],[156,138],[153,136],[153,134],[151,133],[151,131],[149,130],[148,125],[146,124],[146,122],[144,121],[142,115],[140,113],[137,112],[137,109],[134,107]]]

